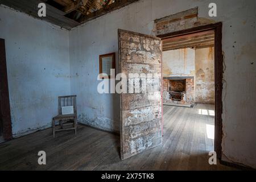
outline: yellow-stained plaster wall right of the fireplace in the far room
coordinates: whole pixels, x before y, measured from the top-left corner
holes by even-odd
[[[196,102],[214,104],[214,47],[196,49]]]

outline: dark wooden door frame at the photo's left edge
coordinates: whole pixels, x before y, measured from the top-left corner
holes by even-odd
[[[13,137],[13,134],[11,130],[5,39],[0,39],[0,73],[0,116],[2,117],[3,138],[5,140],[10,140]]]

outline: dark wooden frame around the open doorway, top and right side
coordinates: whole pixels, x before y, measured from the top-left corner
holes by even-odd
[[[222,23],[207,24],[189,28],[186,30],[170,32],[168,34],[158,35],[161,39],[177,37],[181,35],[193,34],[196,32],[203,32],[207,30],[214,30],[215,45],[214,45],[214,69],[215,69],[215,136],[214,136],[214,150],[217,153],[217,158],[221,159],[221,139],[222,139]]]

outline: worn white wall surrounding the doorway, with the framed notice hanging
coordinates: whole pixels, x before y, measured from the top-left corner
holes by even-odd
[[[118,96],[96,92],[98,55],[118,53],[117,29],[152,34],[154,19],[199,7],[199,17],[223,22],[225,53],[223,90],[223,159],[256,168],[256,30],[254,0],[216,0],[217,17],[209,18],[211,0],[141,0],[91,20],[69,33],[71,92],[79,97],[80,121],[94,123],[98,116],[118,126]],[[233,47],[234,46],[234,47]],[[254,64],[252,64],[254,63]],[[111,129],[111,125],[104,126]]]

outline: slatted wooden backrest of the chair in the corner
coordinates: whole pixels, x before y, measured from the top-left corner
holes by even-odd
[[[61,108],[64,106],[73,106],[74,114],[77,115],[77,113],[76,113],[76,95],[60,96],[59,97],[59,107],[58,107],[59,114],[62,114]]]

